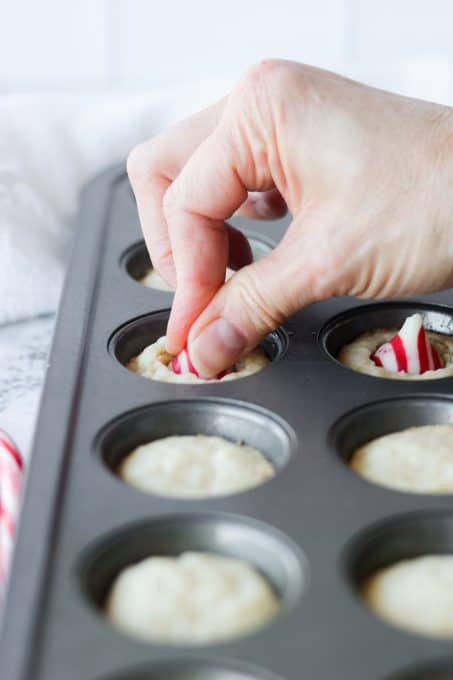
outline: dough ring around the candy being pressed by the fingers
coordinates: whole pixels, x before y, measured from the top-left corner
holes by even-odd
[[[145,347],[143,352],[134,357],[127,363],[127,368],[134,373],[143,375],[145,378],[152,380],[160,380],[161,382],[179,382],[179,383],[205,383],[205,382],[226,382],[227,380],[237,380],[238,378],[245,378],[247,375],[257,373],[262,368],[268,365],[264,350],[261,347],[256,347],[249,352],[242,361],[238,362],[238,369],[233,373],[227,373],[220,380],[203,380],[193,373],[177,374],[168,368],[168,364],[173,359],[165,347],[165,337],[159,338],[152,345]]]

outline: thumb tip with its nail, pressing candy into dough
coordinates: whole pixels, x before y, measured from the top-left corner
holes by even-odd
[[[230,368],[247,346],[247,338],[227,319],[216,319],[190,343],[190,357],[200,376]]]

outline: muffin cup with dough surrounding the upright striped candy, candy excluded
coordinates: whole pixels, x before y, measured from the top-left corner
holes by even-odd
[[[376,365],[375,351],[396,335],[406,319],[420,314],[428,342],[440,356],[441,368],[422,373],[389,371]],[[448,307],[417,302],[383,302],[349,309],[320,331],[328,356],[359,373],[390,380],[437,380],[453,376],[453,312]]]

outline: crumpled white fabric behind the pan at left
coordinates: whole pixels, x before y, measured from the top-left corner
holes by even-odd
[[[228,87],[0,97],[0,324],[56,309],[82,185]]]

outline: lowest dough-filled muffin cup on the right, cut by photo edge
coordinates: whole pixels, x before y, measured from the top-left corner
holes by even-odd
[[[453,514],[425,512],[380,523],[352,542],[346,564],[379,618],[428,638],[453,638]]]

